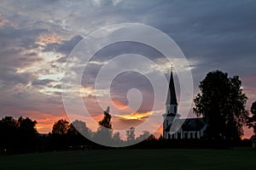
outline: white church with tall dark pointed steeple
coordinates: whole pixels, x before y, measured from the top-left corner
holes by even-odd
[[[166,99],[166,113],[163,116],[164,139],[201,139],[207,128],[203,118],[180,118],[181,116],[177,113],[177,97],[172,71]]]

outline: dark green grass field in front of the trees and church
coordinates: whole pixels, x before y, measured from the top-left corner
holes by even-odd
[[[0,156],[0,169],[255,169],[256,150],[79,150]]]

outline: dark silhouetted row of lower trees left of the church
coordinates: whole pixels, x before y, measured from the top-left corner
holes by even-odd
[[[111,115],[108,112],[109,108],[104,111],[102,121],[98,122],[99,127],[96,132],[92,132],[90,128],[86,127],[85,122],[75,120],[69,123],[65,119],[60,119],[54,123],[51,132],[48,134],[38,133],[37,122],[32,121],[29,117],[23,118],[20,116],[15,119],[12,116],[5,116],[0,121],[1,153],[15,154],[34,151],[107,148],[90,141],[90,139],[97,138],[109,140],[113,144],[125,144],[142,139],[146,139],[146,141],[157,140],[148,131],[144,131],[135,138],[134,127],[126,131],[126,139],[121,139],[120,133],[113,133]]]

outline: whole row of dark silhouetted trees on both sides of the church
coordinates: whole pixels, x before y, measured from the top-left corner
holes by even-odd
[[[194,99],[193,111],[197,116],[204,117],[207,122],[207,130],[204,138],[201,139],[203,143],[199,144],[204,144],[206,141],[210,141],[212,144],[212,141],[214,143],[219,140],[239,141],[243,134],[243,126],[253,127],[253,136],[255,136],[256,101],[251,106],[252,116],[249,116],[249,112],[245,109],[247,96],[242,92],[239,77],[228,77],[228,74],[222,71],[211,71],[200,82],[199,88],[201,92]],[[143,144],[136,144],[133,147],[146,147],[147,144],[150,147],[170,146],[170,141],[164,141],[161,136],[156,139],[147,131],[136,138],[133,127],[126,131],[126,139],[121,139],[119,133],[113,133],[109,108],[104,111],[104,117],[98,124],[97,131],[92,132],[90,128],[86,127],[85,122],[76,120],[69,123],[67,120],[61,119],[54,123],[49,134],[43,135],[37,131],[37,122],[32,121],[29,117],[20,116],[15,119],[5,116],[0,121],[0,150],[4,154],[5,152],[101,148],[102,146],[84,136],[96,139],[102,138],[102,135],[105,135],[104,140],[117,143],[146,139]],[[177,144],[181,143],[177,142]],[[175,144],[176,142],[172,141],[171,145],[175,146]],[[190,140],[186,144],[193,144],[193,142]]]

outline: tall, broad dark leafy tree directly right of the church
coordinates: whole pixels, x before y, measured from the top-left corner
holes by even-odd
[[[242,93],[239,77],[212,71],[200,82],[199,88],[201,93],[194,99],[193,111],[197,116],[206,118],[207,137],[240,139],[248,112],[245,110],[247,96]]]

